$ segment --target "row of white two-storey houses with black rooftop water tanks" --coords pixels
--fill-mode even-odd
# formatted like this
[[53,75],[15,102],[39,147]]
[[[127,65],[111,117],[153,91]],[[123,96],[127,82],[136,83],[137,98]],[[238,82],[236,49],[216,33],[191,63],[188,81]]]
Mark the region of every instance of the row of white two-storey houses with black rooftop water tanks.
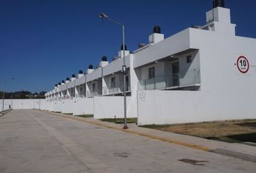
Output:
[[139,125],[256,118],[256,39],[236,36],[235,27],[230,9],[215,1],[205,25],[167,38],[155,26],[148,44],[125,50],[125,57],[120,50],[111,62],[103,57],[98,68],[56,84],[46,102],[109,97],[106,104],[115,109],[111,99],[124,93],[125,58],[127,113]]

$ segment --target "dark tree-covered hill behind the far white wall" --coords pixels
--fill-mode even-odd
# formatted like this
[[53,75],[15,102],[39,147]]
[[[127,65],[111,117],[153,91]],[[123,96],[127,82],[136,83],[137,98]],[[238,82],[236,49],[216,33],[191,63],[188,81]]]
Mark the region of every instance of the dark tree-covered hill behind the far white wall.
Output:
[[[4,99],[45,99],[45,94],[46,92],[35,92],[34,94],[28,91],[4,92]],[[0,99],[3,99],[3,92],[0,92]]]

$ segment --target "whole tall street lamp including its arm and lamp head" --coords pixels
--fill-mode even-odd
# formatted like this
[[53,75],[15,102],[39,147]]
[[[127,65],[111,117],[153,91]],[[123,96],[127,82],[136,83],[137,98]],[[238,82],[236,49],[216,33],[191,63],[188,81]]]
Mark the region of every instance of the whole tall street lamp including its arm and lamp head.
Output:
[[101,13],[100,16],[103,19],[107,19],[110,22],[113,22],[117,25],[121,25],[123,29],[123,66],[122,66],[122,72],[124,74],[124,127],[123,129],[127,129],[127,87],[126,87],[126,74],[127,74],[127,66],[125,65],[125,44],[124,44],[124,24],[114,21],[113,19],[109,19],[109,17],[106,14]]

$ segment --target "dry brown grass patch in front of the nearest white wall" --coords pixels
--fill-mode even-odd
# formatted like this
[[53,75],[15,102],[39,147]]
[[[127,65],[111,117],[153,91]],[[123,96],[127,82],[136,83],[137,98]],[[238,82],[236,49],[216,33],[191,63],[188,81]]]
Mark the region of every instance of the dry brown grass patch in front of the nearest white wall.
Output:
[[197,136],[229,143],[256,143],[256,120],[226,120],[176,125],[142,125],[172,133]]

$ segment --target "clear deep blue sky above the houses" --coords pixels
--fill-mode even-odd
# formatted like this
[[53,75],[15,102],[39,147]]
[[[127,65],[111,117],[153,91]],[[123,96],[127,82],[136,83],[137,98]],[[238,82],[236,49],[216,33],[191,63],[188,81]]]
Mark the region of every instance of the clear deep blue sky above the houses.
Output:
[[[256,38],[256,1],[225,4],[236,35]],[[100,19],[101,12],[124,23],[133,51],[148,43],[154,25],[169,37],[204,25],[211,7],[211,0],[0,0],[0,91],[48,91],[89,64],[98,66],[102,56],[112,60],[121,46],[121,27]]]

